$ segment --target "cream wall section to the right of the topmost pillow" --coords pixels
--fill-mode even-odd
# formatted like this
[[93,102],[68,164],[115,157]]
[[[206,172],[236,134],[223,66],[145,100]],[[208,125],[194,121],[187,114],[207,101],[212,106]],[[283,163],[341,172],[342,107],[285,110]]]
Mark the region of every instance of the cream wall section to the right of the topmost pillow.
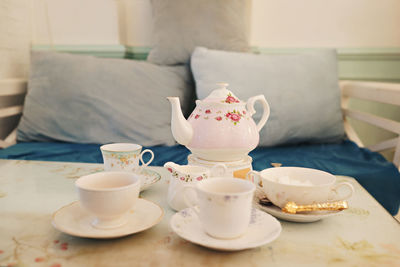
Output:
[[253,0],[261,47],[399,47],[399,0]]

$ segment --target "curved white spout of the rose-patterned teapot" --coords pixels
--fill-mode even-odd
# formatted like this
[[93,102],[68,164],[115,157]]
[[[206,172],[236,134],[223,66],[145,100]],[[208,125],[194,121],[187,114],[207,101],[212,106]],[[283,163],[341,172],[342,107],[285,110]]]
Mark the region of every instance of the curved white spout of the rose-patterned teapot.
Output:
[[181,104],[178,97],[167,97],[171,103],[171,130],[175,140],[184,146],[187,146],[193,137],[192,125],[182,114]]

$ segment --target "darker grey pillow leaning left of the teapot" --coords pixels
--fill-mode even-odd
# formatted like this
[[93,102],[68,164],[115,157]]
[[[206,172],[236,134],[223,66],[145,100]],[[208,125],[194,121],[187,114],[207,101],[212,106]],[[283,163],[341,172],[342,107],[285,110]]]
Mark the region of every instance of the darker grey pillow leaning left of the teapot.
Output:
[[[34,52],[19,141],[172,145],[170,104],[187,109],[188,67]],[[186,105],[185,105],[186,104]]]

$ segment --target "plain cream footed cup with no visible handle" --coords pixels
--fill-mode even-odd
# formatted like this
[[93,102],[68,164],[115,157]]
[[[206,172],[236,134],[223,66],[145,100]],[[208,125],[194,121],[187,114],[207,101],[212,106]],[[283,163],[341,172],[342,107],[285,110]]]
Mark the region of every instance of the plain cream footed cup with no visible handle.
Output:
[[95,216],[92,226],[111,229],[124,225],[127,212],[134,208],[140,178],[128,172],[99,172],[75,181],[81,206]]

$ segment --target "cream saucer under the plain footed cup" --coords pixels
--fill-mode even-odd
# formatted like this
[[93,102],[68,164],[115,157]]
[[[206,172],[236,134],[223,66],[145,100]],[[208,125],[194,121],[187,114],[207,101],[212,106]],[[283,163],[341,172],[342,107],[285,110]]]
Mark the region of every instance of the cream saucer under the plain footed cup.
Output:
[[78,237],[116,238],[131,235],[158,224],[164,215],[163,209],[157,204],[139,198],[134,210],[131,210],[128,222],[113,229],[98,229],[91,225],[94,217],[83,210],[78,201],[57,210],[52,216],[52,224],[61,232]]

